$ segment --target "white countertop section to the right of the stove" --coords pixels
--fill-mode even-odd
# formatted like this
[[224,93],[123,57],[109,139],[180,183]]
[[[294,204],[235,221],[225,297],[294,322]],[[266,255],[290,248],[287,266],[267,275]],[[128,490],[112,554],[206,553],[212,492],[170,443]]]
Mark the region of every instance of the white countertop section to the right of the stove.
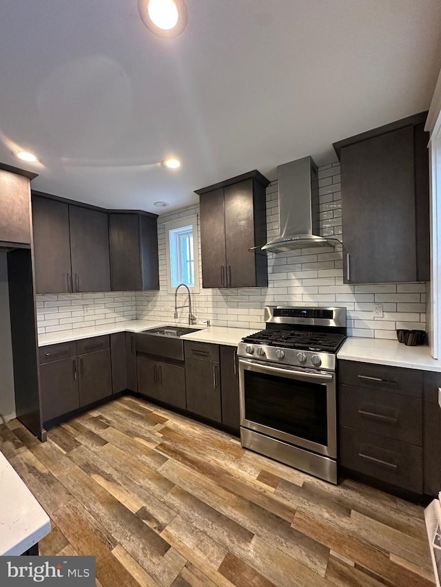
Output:
[[432,358],[428,346],[411,347],[398,341],[348,337],[337,359],[441,372],[441,361]]

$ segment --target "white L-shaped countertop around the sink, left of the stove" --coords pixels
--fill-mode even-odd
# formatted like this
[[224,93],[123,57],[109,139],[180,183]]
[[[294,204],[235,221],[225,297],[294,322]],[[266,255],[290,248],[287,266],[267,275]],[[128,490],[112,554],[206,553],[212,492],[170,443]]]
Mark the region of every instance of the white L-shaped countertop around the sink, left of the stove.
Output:
[[[114,324],[103,324],[99,326],[89,326],[88,328],[76,328],[75,330],[62,330],[61,332],[48,332],[48,334],[39,334],[39,346],[54,345],[69,341],[79,341],[91,337],[99,337],[101,334],[114,334],[114,332],[141,332],[148,328],[167,325],[165,322],[152,322],[147,320],[128,320],[125,322],[116,322]],[[187,324],[182,324],[187,326]],[[227,328],[225,326],[209,326],[209,328],[199,327],[197,324],[194,328],[201,328],[197,332],[185,334],[181,337],[183,340],[201,341],[205,343],[214,343],[218,345],[237,346],[243,337],[256,332],[245,328]]]

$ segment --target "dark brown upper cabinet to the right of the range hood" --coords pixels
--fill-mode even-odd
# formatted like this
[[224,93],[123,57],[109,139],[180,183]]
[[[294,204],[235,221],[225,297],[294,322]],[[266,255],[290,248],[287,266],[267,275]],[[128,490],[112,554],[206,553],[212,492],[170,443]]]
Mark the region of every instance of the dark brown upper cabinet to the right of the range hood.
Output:
[[347,284],[429,279],[427,112],[334,143]]

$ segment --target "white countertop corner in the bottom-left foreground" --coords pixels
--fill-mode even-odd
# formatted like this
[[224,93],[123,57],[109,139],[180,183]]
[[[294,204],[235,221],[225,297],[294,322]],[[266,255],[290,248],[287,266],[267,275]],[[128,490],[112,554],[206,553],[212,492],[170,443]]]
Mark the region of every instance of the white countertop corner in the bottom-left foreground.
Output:
[[21,555],[50,533],[50,520],[0,453],[0,556]]

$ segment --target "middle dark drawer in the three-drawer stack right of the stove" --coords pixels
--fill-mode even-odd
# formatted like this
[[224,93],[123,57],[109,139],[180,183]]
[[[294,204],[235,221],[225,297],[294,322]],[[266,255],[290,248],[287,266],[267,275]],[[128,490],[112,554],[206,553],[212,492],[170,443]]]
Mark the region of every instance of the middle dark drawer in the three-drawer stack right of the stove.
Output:
[[341,385],[340,423],[422,446],[420,399]]

